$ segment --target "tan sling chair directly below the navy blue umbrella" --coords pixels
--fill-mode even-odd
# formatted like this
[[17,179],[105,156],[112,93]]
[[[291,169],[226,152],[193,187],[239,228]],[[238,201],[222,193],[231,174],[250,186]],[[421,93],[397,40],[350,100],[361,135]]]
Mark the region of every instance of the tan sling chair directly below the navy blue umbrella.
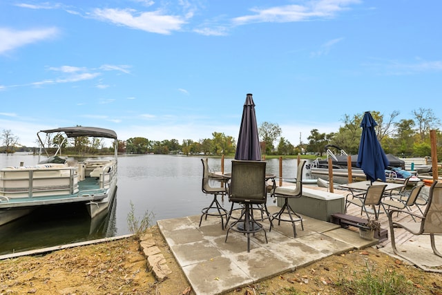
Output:
[[[374,219],[378,220],[379,210],[381,207],[381,199],[383,198],[385,187],[387,187],[387,184],[370,185],[365,193],[361,193],[358,195],[349,193],[345,197],[345,212],[347,212],[347,208],[350,204],[355,204],[356,206],[361,207],[361,215],[362,212],[365,211],[365,214],[367,214],[367,218],[369,219],[367,206],[372,206],[372,209],[374,211]],[[377,211],[376,206],[378,206]]]

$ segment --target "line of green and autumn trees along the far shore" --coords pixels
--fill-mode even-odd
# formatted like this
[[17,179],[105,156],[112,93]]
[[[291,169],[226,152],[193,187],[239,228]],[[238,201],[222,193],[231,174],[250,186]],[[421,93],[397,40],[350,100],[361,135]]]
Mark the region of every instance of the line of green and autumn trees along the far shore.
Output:
[[[396,120],[400,114],[393,111],[390,115],[383,115],[378,111],[372,111],[372,116],[377,122],[375,127],[378,140],[381,142],[385,153],[392,153],[400,157],[425,157],[431,154],[430,130],[436,130],[438,139],[438,157],[442,158],[442,138],[439,127],[441,120],[434,115],[430,108],[419,108],[412,111],[412,119]],[[298,155],[302,153],[314,153],[323,155],[327,144],[339,146],[349,155],[358,153],[361,138],[361,121],[363,113],[343,116],[343,125],[333,133],[320,133],[318,129],[312,129],[308,142],[300,142],[294,146],[285,137],[282,137],[282,129],[276,123],[262,122],[258,128],[261,141],[261,150],[265,155]],[[0,135],[3,143],[1,151],[12,153],[26,149],[17,148],[19,137],[10,130],[3,130]],[[64,151],[70,153],[93,153],[94,151],[111,149],[106,148],[99,139],[78,137],[73,142],[63,142],[61,135],[55,135],[48,140],[47,148],[58,148],[61,144]],[[213,132],[211,138],[194,140],[148,140],[146,137],[131,137],[128,140],[118,142],[119,153],[131,154],[184,154],[184,155],[234,155],[236,151],[236,139],[231,135]]]

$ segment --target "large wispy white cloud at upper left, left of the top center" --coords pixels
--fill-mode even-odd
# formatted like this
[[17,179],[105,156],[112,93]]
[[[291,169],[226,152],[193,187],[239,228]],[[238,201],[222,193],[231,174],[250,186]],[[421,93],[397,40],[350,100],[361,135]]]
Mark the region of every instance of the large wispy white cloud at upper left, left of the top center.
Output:
[[93,17],[104,21],[111,21],[121,26],[165,35],[171,34],[172,31],[180,30],[181,26],[186,23],[182,17],[162,15],[159,10],[137,12],[133,9],[97,8],[93,10]]

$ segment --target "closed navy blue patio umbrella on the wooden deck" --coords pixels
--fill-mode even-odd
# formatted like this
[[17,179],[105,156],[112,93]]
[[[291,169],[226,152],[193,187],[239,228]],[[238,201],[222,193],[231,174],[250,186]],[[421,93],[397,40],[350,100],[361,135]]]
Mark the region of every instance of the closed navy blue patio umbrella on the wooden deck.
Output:
[[377,123],[374,121],[372,114],[365,112],[361,122],[362,135],[356,166],[363,169],[365,175],[367,175],[367,180],[370,180],[370,182],[377,179],[385,182],[385,169],[390,163],[378,141],[376,131],[374,131],[376,125]]

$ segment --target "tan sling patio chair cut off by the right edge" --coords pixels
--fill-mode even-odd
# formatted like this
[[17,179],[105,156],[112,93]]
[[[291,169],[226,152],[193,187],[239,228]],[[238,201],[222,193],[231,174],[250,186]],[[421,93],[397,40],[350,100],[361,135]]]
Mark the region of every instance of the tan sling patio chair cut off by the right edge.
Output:
[[[415,218],[419,218],[420,222],[398,222],[394,221],[392,216],[396,211],[400,211],[401,213],[406,213]],[[425,211],[422,215],[412,213],[404,210],[391,210],[388,212],[388,223],[390,225],[390,236],[392,240],[392,248],[394,254],[409,260],[414,263],[416,266],[421,267],[427,272],[441,272],[442,269],[431,269],[421,265],[421,263],[416,263],[410,258],[403,256],[402,251],[398,251],[396,248],[396,241],[394,240],[394,229],[405,229],[409,231],[411,234],[416,236],[419,235],[430,235],[431,247],[433,249],[434,254],[436,256],[442,257],[441,252],[436,249],[436,242],[434,240],[435,235],[442,234],[442,182],[434,181],[432,186],[430,187],[430,193],[428,196],[428,204],[425,208]],[[419,250],[421,251],[421,250]]]

